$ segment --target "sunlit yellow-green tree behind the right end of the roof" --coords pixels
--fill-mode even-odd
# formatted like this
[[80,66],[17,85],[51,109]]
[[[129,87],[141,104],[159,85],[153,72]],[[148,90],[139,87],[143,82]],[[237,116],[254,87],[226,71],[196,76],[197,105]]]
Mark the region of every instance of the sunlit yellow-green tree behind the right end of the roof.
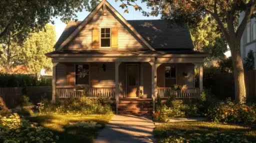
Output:
[[209,20],[210,15],[201,19],[197,26],[190,26],[191,39],[194,50],[209,53],[207,61],[213,58],[223,59],[228,50],[223,34],[217,27],[216,22]]

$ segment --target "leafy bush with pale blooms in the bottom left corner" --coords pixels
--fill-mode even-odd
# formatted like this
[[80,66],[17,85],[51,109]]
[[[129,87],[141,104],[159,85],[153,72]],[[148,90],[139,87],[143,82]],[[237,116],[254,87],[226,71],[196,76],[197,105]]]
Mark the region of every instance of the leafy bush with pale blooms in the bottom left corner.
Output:
[[57,139],[52,132],[29,124],[17,114],[0,117],[0,143],[53,143]]

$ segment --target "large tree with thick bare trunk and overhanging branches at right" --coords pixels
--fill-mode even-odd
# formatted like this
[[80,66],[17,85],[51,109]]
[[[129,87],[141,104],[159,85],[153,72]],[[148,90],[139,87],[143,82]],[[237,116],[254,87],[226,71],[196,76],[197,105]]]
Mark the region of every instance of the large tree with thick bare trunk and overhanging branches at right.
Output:
[[[116,0],[117,1],[117,0]],[[122,8],[133,6],[136,0],[120,0]],[[151,11],[142,11],[144,15],[158,15],[170,19],[172,23],[188,23],[196,26],[200,20],[210,14],[224,35],[232,56],[234,73],[235,101],[243,102],[246,96],[242,57],[240,53],[240,39],[247,22],[254,16],[256,0],[141,0],[146,2]],[[238,25],[239,12],[244,17]]]

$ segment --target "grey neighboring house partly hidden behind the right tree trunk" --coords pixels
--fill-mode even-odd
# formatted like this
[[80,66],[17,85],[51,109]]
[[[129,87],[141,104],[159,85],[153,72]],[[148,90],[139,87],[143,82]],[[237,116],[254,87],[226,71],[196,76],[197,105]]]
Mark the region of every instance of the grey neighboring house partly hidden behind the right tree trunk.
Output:
[[[241,23],[243,17],[244,12],[241,12],[239,14],[239,24]],[[247,23],[247,26],[244,29],[240,40],[240,49],[242,59],[244,59],[247,56],[249,50],[252,50],[254,52],[254,59],[256,61],[256,18],[250,19],[250,21]]]

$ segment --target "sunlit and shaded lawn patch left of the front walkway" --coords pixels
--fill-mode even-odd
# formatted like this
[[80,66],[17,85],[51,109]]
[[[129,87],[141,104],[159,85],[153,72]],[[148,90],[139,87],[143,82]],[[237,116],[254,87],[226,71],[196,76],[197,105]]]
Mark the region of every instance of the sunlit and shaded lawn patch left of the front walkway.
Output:
[[[102,125],[108,123],[113,115],[39,115],[27,117],[30,122],[38,123],[59,136],[57,143],[91,143],[100,129],[68,127],[68,123],[94,121]],[[101,129],[102,129],[101,128]]]

